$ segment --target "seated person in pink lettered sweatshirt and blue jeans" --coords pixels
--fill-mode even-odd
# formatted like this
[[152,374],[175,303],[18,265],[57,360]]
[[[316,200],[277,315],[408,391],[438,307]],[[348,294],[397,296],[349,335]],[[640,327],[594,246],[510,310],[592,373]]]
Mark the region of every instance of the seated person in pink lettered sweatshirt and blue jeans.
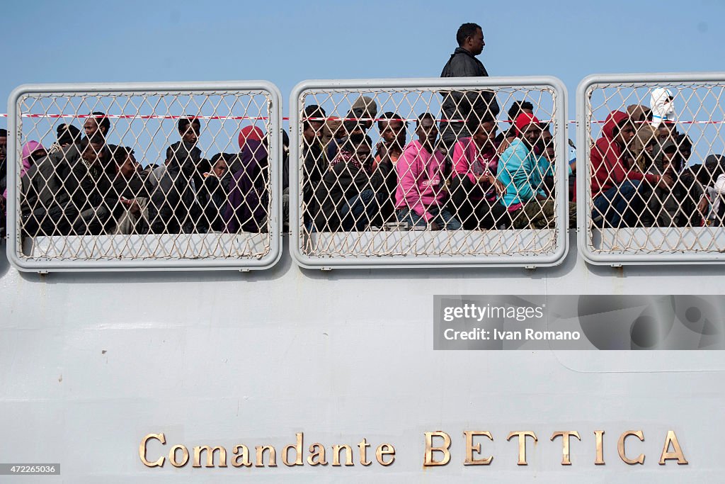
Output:
[[438,127],[430,112],[418,116],[415,134],[418,139],[405,147],[395,165],[398,175],[395,215],[399,222],[407,222],[409,226],[460,229],[460,222],[446,209],[444,155],[435,148]]

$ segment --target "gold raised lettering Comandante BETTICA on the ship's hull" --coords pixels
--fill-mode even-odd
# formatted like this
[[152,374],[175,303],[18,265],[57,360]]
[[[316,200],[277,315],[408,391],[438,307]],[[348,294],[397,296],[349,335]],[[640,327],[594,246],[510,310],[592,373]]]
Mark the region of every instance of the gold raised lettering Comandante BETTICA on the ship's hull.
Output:
[[[423,467],[445,466],[451,462],[452,439],[447,432],[424,432],[423,446]],[[494,441],[494,436],[488,430],[465,430],[465,459],[461,463],[470,465],[490,465],[494,456],[487,455],[482,446],[486,442]],[[579,432],[576,430],[558,430],[552,433],[550,440],[554,442],[560,438],[561,465],[572,465],[570,448],[572,438],[579,440],[581,445],[587,445],[582,441]],[[511,455],[502,457],[505,463],[525,466],[527,443],[536,444],[539,441],[536,432],[533,430],[516,430],[509,432],[505,440],[512,442]],[[589,463],[604,465],[605,431],[595,430],[593,440],[593,457]],[[642,430],[626,430],[618,435],[617,454],[621,462],[629,465],[645,464],[645,454],[636,454],[636,451],[627,449],[627,446],[634,447],[634,443],[645,441],[645,434]],[[515,448],[513,444],[516,444]],[[554,445],[554,444],[552,444]],[[146,467],[164,467],[168,462],[173,467],[185,467],[190,461],[192,467],[277,467],[278,452],[272,445],[254,446],[254,451],[244,444],[232,446],[208,446],[200,445],[188,448],[183,444],[175,444],[166,448],[166,436],[163,433],[148,434],[141,439],[138,446],[138,456]],[[368,454],[368,451],[370,453]],[[529,448],[531,451],[531,448]],[[516,456],[518,454],[518,460]],[[635,455],[636,454],[636,455]],[[279,454],[281,462],[287,467],[305,466],[370,466],[378,464],[388,467],[395,462],[395,447],[392,443],[380,443],[376,446],[368,443],[366,438],[359,443],[334,444],[325,446],[323,443],[315,442],[305,447],[304,435],[302,432],[295,434],[294,443],[283,446]],[[668,461],[676,461],[677,464],[687,464],[684,458],[682,446],[674,430],[668,430],[664,436],[662,451],[658,463],[665,465]]]

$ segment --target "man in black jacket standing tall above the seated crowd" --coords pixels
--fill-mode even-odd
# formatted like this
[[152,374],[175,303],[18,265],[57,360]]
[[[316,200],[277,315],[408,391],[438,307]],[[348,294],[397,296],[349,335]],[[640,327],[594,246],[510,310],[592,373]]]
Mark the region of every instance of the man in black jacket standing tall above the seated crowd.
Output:
[[[486,67],[476,56],[481,54],[486,43],[481,25],[464,23],[456,33],[458,48],[451,54],[441,73],[442,78],[488,77]],[[499,105],[493,91],[445,91],[443,94],[443,115],[446,119],[475,119],[471,125],[478,126],[484,118],[495,119]],[[476,123],[476,120],[478,123]],[[443,144],[452,150],[456,139],[470,137],[471,133],[463,121],[441,123]]]

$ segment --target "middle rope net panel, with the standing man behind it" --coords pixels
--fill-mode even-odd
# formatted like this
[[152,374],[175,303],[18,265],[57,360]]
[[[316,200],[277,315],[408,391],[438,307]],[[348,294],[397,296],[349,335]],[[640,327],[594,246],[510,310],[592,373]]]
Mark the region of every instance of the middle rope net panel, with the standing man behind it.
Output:
[[[529,122],[517,129],[522,112]],[[553,253],[566,230],[555,115],[548,86],[303,91],[291,127],[299,249],[368,259]]]

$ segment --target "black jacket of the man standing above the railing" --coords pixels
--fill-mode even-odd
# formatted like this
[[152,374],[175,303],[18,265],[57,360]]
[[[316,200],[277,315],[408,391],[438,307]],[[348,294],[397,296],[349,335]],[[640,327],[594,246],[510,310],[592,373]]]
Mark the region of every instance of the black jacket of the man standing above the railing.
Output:
[[[463,47],[455,49],[441,72],[442,78],[488,76],[489,73],[481,61]],[[468,119],[473,114],[482,120],[486,112],[495,118],[500,111],[493,91],[447,91],[442,94],[443,114],[447,119]],[[442,123],[441,128],[441,139],[447,145],[458,138],[471,136],[465,123]]]

